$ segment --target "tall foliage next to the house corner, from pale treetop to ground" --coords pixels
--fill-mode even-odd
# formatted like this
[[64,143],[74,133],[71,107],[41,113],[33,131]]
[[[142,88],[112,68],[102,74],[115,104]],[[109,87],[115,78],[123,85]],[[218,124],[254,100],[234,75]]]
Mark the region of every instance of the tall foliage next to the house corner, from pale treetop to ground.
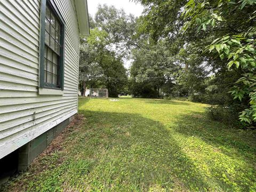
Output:
[[[122,46],[119,47],[120,44],[123,44],[124,39],[119,38],[119,35],[122,30],[126,30],[125,25],[132,25],[131,23],[135,22],[134,18],[113,6],[99,5],[95,18],[90,17],[90,20],[94,27],[91,29],[90,36],[81,37],[79,60],[81,93],[86,87],[107,88],[109,97],[117,97],[118,93],[125,89],[127,80],[106,77],[127,77],[123,65],[126,54],[122,53]],[[128,33],[123,36],[123,38],[128,37],[130,37]]]

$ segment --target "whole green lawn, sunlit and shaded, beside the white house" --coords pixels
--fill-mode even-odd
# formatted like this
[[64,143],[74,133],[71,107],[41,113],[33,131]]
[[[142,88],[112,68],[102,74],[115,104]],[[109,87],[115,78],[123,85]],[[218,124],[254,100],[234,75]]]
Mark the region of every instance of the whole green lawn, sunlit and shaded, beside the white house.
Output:
[[205,107],[81,98],[83,117],[4,190],[256,191],[255,131],[211,121]]

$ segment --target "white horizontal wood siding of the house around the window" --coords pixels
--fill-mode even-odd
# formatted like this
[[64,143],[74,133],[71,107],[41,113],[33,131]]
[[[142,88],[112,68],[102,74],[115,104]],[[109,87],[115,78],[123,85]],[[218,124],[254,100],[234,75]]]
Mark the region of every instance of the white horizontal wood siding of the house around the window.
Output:
[[66,22],[63,95],[38,94],[41,1],[0,1],[0,158],[77,113],[75,3],[54,2]]

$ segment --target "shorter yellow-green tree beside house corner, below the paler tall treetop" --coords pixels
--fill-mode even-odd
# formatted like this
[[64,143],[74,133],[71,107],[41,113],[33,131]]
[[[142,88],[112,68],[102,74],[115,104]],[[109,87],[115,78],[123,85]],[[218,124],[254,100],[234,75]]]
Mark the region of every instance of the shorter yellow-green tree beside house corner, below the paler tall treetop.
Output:
[[98,28],[92,29],[89,37],[81,39],[79,80],[82,93],[86,87],[107,88],[109,97],[117,97],[123,90],[125,81],[109,78],[126,77],[126,69],[115,52],[106,48],[108,44],[107,32]]

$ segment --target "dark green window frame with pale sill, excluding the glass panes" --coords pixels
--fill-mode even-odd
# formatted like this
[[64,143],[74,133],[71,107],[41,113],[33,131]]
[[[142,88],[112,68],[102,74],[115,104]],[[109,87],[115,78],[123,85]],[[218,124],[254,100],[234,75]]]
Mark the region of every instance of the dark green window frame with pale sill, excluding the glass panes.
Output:
[[[58,59],[59,66],[59,86],[44,82],[44,53],[45,53],[45,17],[46,17],[46,5],[54,16],[60,21],[60,56]],[[51,24],[50,24],[51,25]],[[51,89],[52,94],[57,93],[57,90],[63,91],[64,88],[64,67],[65,67],[65,31],[66,23],[55,5],[53,0],[41,0],[41,13],[40,13],[40,38],[39,38],[39,94],[44,94],[42,89]],[[53,51],[54,52],[54,51]],[[40,93],[41,92],[41,93]],[[50,94],[51,91],[47,91]]]

